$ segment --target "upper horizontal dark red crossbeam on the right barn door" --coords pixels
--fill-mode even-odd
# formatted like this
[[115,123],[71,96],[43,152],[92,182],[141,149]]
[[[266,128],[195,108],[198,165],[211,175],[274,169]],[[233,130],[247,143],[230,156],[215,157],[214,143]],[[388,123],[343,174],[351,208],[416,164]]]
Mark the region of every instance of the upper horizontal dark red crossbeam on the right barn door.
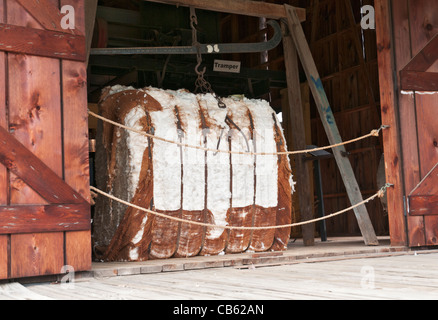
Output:
[[408,91],[438,91],[438,73],[402,70],[400,87]]

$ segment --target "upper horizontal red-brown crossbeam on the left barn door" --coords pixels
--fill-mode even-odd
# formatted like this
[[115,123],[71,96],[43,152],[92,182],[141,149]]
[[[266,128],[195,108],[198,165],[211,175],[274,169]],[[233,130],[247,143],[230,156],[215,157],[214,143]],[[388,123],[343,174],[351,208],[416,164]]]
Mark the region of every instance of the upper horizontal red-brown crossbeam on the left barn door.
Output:
[[0,24],[0,51],[85,61],[84,36]]

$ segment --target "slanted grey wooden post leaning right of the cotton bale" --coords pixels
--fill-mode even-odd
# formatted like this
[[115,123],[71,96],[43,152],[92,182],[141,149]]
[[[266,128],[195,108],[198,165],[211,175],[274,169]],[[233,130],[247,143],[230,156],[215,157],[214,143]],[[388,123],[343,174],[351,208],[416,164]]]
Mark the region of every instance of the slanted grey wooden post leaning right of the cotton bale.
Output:
[[[342,139],[339,134],[335,118],[330,107],[327,95],[324,91],[321,78],[314,60],[309,45],[307,44],[301,22],[292,6],[285,5],[287,21],[292,38],[301,59],[304,71],[306,73],[309,87],[312,90],[318,112],[321,117],[324,129],[331,144],[341,143]],[[342,179],[347,189],[348,197],[352,205],[363,201],[359,185],[354,176],[353,168],[348,158],[344,157],[346,152],[345,147],[333,148],[333,154],[341,172]],[[374,232],[370,217],[368,215],[365,205],[362,205],[354,210],[359,228],[362,232],[366,245],[378,245],[377,236]]]

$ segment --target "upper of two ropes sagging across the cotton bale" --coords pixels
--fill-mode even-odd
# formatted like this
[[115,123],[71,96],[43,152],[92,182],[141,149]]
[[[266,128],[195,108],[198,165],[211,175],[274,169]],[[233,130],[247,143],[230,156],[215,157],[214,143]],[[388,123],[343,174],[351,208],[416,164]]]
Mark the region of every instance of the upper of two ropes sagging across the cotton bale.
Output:
[[117,126],[119,128],[122,128],[122,129],[125,129],[125,130],[129,130],[129,131],[132,131],[132,132],[135,132],[135,133],[138,133],[138,134],[142,134],[142,135],[144,135],[146,137],[149,137],[149,138],[152,138],[152,139],[155,139],[155,140],[160,140],[160,141],[163,141],[163,142],[176,144],[176,145],[181,146],[181,147],[186,147],[186,148],[191,148],[191,149],[198,149],[198,150],[203,150],[203,151],[208,151],[208,152],[214,152],[215,154],[217,154],[217,153],[228,153],[228,154],[240,154],[240,155],[251,155],[251,156],[295,155],[295,154],[304,154],[304,153],[311,153],[311,152],[316,152],[316,151],[333,149],[333,148],[341,147],[341,146],[344,146],[344,145],[347,145],[347,144],[351,144],[351,143],[354,143],[354,142],[357,142],[357,141],[360,141],[360,140],[364,140],[364,139],[367,139],[367,138],[370,138],[370,137],[378,137],[380,135],[380,132],[383,129],[387,129],[388,128],[388,126],[382,125],[379,129],[372,130],[369,134],[364,135],[362,137],[359,137],[359,138],[356,138],[356,139],[352,139],[352,140],[349,140],[349,141],[345,141],[345,142],[341,142],[341,143],[337,143],[337,144],[333,144],[333,145],[326,146],[326,147],[307,149],[307,150],[300,150],[300,151],[285,151],[285,152],[273,152],[273,153],[254,153],[254,152],[242,152],[242,151],[230,151],[230,150],[217,150],[217,149],[205,148],[205,147],[202,147],[202,146],[193,146],[193,145],[189,145],[189,144],[186,144],[186,143],[172,141],[172,140],[168,140],[168,139],[165,139],[165,138],[157,137],[157,136],[154,136],[153,134],[149,134],[149,133],[146,133],[144,131],[140,131],[140,130],[137,130],[137,129],[134,129],[134,128],[131,128],[131,127],[127,127],[127,126],[125,126],[123,124],[120,124],[118,122],[114,122],[114,121],[109,120],[109,119],[107,119],[105,117],[102,117],[102,116],[100,116],[100,115],[98,115],[98,114],[96,114],[96,113],[94,113],[94,112],[92,112],[90,110],[88,110],[88,114],[93,116],[93,117],[95,117],[95,118],[97,118],[97,119],[100,119],[102,121],[105,121],[107,123],[115,125],[115,126]]

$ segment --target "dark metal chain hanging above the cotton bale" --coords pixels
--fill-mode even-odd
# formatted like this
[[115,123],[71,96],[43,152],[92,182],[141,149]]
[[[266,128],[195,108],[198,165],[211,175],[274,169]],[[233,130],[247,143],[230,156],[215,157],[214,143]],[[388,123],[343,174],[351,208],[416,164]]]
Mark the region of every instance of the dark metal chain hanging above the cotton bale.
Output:
[[213,91],[211,84],[205,79],[204,75],[207,68],[204,67],[202,70],[199,68],[202,64],[202,54],[201,54],[201,44],[198,41],[198,31],[196,27],[198,26],[198,17],[194,7],[190,7],[190,26],[192,28],[192,45],[196,47],[196,66],[195,72],[198,78],[195,81],[195,93],[201,91],[202,93],[211,93],[218,101],[219,108],[225,109],[227,106]]

